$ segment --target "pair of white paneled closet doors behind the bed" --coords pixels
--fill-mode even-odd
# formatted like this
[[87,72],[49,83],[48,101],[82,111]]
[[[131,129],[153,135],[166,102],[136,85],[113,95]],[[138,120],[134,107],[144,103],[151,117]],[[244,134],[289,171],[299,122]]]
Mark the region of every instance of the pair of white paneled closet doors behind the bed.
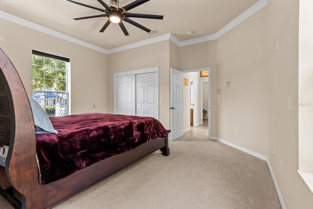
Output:
[[158,119],[157,72],[116,76],[116,114]]

